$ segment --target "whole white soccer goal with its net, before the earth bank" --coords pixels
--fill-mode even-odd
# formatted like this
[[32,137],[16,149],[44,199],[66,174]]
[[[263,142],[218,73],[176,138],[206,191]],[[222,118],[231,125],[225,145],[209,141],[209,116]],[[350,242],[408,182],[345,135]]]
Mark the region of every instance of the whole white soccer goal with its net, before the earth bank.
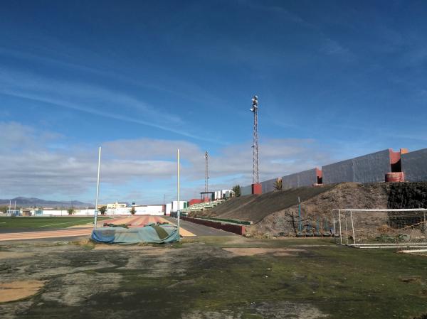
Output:
[[333,210],[338,244],[357,248],[427,247],[427,209]]

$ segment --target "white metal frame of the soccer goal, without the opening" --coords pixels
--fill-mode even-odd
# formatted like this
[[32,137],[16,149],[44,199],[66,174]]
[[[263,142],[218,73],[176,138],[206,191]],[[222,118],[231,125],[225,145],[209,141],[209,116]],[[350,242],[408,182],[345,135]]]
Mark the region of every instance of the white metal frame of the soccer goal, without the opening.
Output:
[[[411,238],[408,239],[407,242],[392,242],[392,243],[370,243],[370,242],[362,242],[362,239],[357,238],[357,234],[355,231],[354,225],[354,214],[369,214],[369,212],[374,213],[399,213],[401,212],[404,217],[405,213],[410,215],[411,213],[420,213],[417,218],[422,217],[422,222],[418,222],[416,225],[422,225],[423,228],[422,234],[423,236],[417,237],[416,242],[411,242]],[[422,213],[422,214],[421,214]],[[334,220],[334,237],[336,239],[337,244],[342,244],[348,247],[355,248],[427,248],[427,209],[426,208],[406,208],[406,209],[334,209],[332,210],[332,217]],[[375,217],[375,215],[371,215],[370,217]],[[388,217],[389,218],[389,217]],[[407,226],[406,228],[410,228],[411,226]],[[392,229],[392,227],[389,227]],[[404,227],[405,228],[405,227]],[[398,229],[398,228],[396,228]],[[360,232],[360,230],[357,230]],[[404,236],[404,234],[402,234]]]

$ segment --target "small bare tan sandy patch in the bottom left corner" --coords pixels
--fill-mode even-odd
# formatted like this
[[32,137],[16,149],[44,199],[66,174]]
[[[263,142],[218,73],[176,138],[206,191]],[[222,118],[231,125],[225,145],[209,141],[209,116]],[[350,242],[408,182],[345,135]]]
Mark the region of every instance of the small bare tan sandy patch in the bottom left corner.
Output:
[[35,295],[44,286],[45,281],[12,281],[0,283],[0,303],[17,301]]

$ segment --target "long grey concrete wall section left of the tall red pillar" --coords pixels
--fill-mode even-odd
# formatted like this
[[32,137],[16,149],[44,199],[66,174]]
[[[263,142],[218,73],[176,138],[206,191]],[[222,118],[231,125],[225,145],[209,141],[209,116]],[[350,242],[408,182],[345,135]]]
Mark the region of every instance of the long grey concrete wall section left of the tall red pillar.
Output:
[[324,184],[384,182],[385,175],[389,172],[389,149],[322,166]]

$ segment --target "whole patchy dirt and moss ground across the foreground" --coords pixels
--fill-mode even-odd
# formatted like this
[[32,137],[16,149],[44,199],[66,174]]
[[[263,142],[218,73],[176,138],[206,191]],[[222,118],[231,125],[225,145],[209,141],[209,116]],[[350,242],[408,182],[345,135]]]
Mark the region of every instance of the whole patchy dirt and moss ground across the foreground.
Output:
[[332,239],[4,242],[0,294],[8,296],[0,318],[8,319],[421,319],[427,258],[349,249]]

